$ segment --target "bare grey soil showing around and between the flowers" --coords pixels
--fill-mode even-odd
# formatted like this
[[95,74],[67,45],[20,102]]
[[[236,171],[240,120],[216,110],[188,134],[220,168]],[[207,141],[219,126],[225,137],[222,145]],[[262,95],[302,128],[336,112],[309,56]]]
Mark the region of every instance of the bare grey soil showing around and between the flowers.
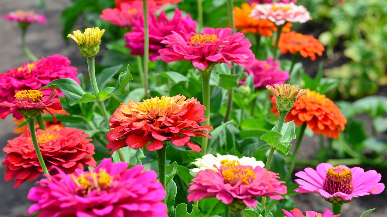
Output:
[[[12,2],[12,3],[11,3]],[[67,56],[72,65],[78,68],[79,72],[85,72],[87,70],[83,58],[81,58],[77,47],[66,46],[62,39],[62,29],[58,26],[60,14],[62,10],[70,5],[68,0],[55,0],[46,1],[46,10],[42,10],[35,6],[34,1],[31,0],[17,0],[7,1],[0,0],[0,15],[3,15],[9,11],[17,9],[22,10],[35,10],[35,12],[45,14],[48,18],[48,24],[46,26],[40,24],[32,24],[29,27],[27,33],[27,44],[31,51],[39,58],[41,56],[49,56],[52,54],[62,54]],[[21,46],[20,29],[15,23],[8,23],[4,20],[0,20],[0,44],[1,44],[1,58],[0,66],[1,72],[6,71],[8,68],[14,68],[22,65],[29,59],[24,55]],[[312,34],[315,34],[313,32]],[[318,32],[316,33],[318,34]],[[307,59],[302,60],[303,63],[308,66],[307,73],[313,75],[317,70],[317,63],[319,60],[324,60],[325,57],[317,59],[315,62],[310,62]],[[346,61],[345,59],[338,58],[338,62]],[[340,63],[324,63],[324,67],[330,68],[332,65]],[[382,93],[386,93],[387,89],[382,88]],[[385,95],[385,94],[382,94]],[[0,141],[2,141],[2,147],[7,143],[9,139],[15,137],[12,134],[12,118],[8,117],[5,120],[0,121]],[[300,158],[313,158],[319,147],[319,138],[305,137],[301,144],[301,149],[298,153]],[[0,152],[0,161],[4,161],[4,153]],[[372,169],[372,168],[367,168]],[[301,167],[296,167],[296,171],[303,170]],[[382,173],[383,183],[387,183],[387,171],[377,169],[379,173]],[[5,166],[0,166],[0,176],[4,174]],[[39,179],[38,179],[39,180]],[[13,188],[14,181],[5,182],[0,177],[0,217],[24,217],[28,207],[32,204],[27,200],[27,193],[29,189],[34,186],[34,182],[27,181],[19,188]],[[315,194],[301,194],[293,196],[296,206],[301,210],[316,210],[323,211],[325,208],[331,209],[331,205],[325,202],[319,195]],[[368,217],[382,217],[387,216],[387,191],[380,195],[364,196],[361,198],[355,198],[350,204],[345,204],[342,207],[343,217],[358,217],[364,211],[376,207],[377,209],[368,215]]]

